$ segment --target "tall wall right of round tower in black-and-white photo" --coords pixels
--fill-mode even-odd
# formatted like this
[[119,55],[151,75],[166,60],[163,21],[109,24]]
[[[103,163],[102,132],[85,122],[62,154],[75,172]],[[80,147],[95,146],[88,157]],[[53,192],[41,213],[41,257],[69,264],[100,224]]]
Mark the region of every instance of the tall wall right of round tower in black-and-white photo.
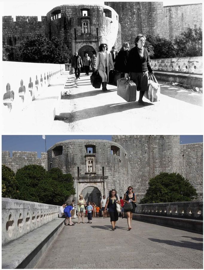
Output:
[[135,46],[135,37],[157,34],[172,42],[175,36],[194,24],[202,27],[202,4],[185,4],[163,7],[163,2],[104,2],[119,15],[122,42],[130,48]]

